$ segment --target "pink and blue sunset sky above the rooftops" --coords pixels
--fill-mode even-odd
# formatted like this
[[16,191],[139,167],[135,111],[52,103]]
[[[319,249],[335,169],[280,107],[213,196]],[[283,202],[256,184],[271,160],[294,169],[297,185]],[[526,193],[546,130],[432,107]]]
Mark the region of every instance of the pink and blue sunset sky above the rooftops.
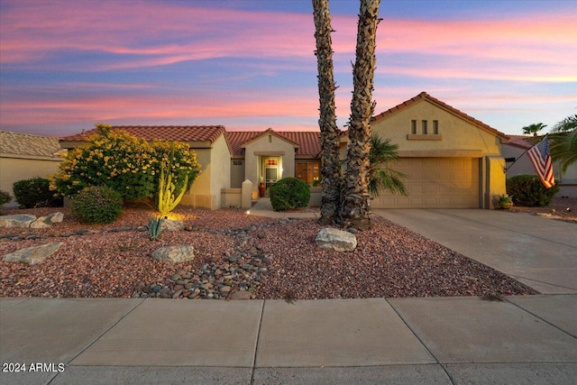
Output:
[[[330,2],[341,128],[359,2]],[[0,129],[318,130],[310,0],[0,0]],[[382,0],[376,114],[426,91],[503,132],[577,114],[577,1]]]

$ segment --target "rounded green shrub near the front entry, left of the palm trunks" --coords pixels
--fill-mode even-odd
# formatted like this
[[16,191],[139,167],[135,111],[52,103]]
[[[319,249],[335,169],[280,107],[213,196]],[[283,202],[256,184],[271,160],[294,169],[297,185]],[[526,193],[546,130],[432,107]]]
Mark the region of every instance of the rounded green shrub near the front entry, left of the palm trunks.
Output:
[[270,186],[270,203],[274,211],[307,207],[310,199],[310,188],[298,178],[280,179]]

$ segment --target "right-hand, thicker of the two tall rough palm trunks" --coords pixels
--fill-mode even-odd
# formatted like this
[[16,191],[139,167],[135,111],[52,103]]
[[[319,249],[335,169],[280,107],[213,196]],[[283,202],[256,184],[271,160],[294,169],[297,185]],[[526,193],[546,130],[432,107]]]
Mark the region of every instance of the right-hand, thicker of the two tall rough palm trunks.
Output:
[[372,90],[380,0],[361,0],[353,67],[353,100],[349,122],[349,144],[344,175],[343,221],[345,227],[371,227],[369,170],[371,169],[371,116],[375,104]]

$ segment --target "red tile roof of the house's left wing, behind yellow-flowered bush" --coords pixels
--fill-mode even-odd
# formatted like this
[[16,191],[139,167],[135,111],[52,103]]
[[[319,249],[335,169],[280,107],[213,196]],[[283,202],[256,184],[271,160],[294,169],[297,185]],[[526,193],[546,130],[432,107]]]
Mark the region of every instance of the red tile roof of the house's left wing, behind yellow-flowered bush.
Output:
[[[147,141],[161,139],[180,142],[215,142],[224,133],[223,125],[114,125]],[[62,138],[61,142],[83,142],[96,133],[96,128]]]

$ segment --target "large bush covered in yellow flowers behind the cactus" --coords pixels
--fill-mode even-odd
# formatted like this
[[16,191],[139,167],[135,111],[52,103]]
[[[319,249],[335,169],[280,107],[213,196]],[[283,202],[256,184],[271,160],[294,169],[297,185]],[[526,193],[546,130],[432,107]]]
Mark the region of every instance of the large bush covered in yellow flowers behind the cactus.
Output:
[[50,177],[50,188],[73,197],[88,186],[105,186],[124,200],[159,197],[161,165],[170,164],[175,190],[188,190],[200,173],[197,154],[185,142],[147,142],[108,124],[96,124],[97,133],[87,144],[69,150],[59,170]]

